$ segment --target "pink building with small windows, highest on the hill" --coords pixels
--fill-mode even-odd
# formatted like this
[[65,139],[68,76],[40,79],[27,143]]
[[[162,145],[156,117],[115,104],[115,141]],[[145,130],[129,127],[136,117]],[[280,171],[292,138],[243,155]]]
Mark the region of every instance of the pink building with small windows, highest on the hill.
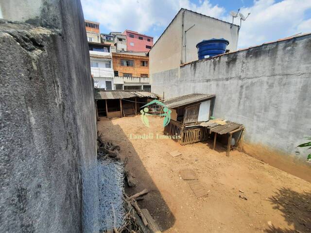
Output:
[[125,30],[127,51],[143,52],[149,51],[154,44],[154,37]]

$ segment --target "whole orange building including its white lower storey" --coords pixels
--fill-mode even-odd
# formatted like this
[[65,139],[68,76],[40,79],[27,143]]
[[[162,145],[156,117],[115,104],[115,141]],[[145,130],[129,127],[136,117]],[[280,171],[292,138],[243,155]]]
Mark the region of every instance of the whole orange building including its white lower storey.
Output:
[[112,63],[116,90],[151,90],[149,57],[114,52]]

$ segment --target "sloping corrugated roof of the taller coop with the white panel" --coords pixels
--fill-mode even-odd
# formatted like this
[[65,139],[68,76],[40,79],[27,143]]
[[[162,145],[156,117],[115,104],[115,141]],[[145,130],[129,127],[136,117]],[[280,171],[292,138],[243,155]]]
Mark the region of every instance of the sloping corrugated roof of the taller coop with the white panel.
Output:
[[215,97],[215,95],[210,94],[190,94],[185,96],[179,96],[172,99],[164,100],[163,103],[168,108],[177,108],[190,103],[195,103],[203,100],[208,100]]

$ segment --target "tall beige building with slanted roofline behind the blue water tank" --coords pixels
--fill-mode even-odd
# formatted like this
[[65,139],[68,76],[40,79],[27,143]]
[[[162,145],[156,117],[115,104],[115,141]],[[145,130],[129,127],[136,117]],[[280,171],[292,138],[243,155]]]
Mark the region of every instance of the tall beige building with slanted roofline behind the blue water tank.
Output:
[[149,51],[151,79],[154,73],[198,60],[196,45],[202,40],[225,38],[229,41],[227,50],[237,50],[239,29],[229,22],[180,9]]

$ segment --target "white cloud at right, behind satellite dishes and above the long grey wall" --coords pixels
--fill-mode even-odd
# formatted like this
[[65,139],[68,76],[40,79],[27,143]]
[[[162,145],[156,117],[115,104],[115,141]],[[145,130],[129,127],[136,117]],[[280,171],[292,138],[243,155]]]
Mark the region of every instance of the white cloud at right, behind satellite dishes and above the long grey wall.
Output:
[[[311,32],[311,19],[305,13],[311,9],[311,0],[259,0],[249,8],[242,8],[244,16],[239,35],[239,47],[262,44],[296,33]],[[230,17],[226,18],[227,20]],[[235,23],[240,24],[240,19]]]

